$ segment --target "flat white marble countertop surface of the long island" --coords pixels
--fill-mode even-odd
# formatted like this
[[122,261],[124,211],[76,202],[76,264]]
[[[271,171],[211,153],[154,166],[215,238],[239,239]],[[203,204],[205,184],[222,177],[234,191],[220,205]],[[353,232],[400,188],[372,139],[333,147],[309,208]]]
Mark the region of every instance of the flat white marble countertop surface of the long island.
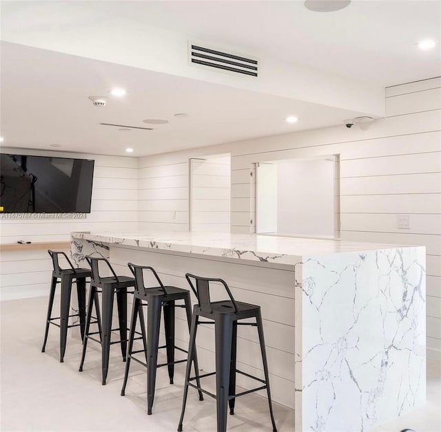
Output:
[[105,244],[287,264],[296,263],[301,257],[406,247],[333,239],[154,230],[148,233],[72,233],[72,237]]

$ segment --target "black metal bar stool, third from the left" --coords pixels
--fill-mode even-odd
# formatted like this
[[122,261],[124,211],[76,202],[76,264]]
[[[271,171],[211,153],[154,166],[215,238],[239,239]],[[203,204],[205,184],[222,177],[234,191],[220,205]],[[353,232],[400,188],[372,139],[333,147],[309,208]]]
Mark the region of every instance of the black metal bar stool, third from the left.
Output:
[[[187,323],[190,327],[192,321],[192,303],[190,301],[190,293],[188,290],[177,288],[174,286],[164,286],[161,279],[154,268],[150,266],[136,266],[132,263],[127,263],[130,270],[135,277],[135,292],[134,303],[132,309],[132,321],[130,323],[130,335],[129,335],[129,347],[127,354],[127,363],[125,365],[125,376],[123,382],[123,388],[121,389],[121,396],[125,395],[125,386],[127,384],[127,378],[130,369],[130,359],[133,358],[137,363],[147,367],[147,414],[152,414],[152,407],[154,401],[154,389],[156,384],[156,369],[158,367],[167,366],[168,375],[170,378],[170,384],[173,384],[174,378],[174,365],[176,363],[183,363],[185,360],[175,360],[174,350],[185,351],[174,345],[174,328],[175,328],[175,307],[185,307],[187,313]],[[144,283],[144,272],[148,270],[152,272],[156,281],[158,281],[157,287],[146,288]],[[183,300],[184,305],[176,305],[176,301]],[[146,303],[145,303],[146,302]],[[143,306],[147,306],[147,349],[133,351],[133,341],[135,334],[135,327],[137,316],[141,318],[143,316]],[[159,330],[161,325],[161,310],[164,310],[164,324],[165,324],[165,345],[159,346]],[[145,324],[143,319],[141,320],[141,332],[145,335]],[[158,349],[166,348],[167,351],[167,363],[158,365]],[[145,353],[146,363],[134,357],[134,354],[140,352]],[[197,374],[198,360],[194,358],[194,371]],[[199,391],[199,400],[203,400],[203,395]]]

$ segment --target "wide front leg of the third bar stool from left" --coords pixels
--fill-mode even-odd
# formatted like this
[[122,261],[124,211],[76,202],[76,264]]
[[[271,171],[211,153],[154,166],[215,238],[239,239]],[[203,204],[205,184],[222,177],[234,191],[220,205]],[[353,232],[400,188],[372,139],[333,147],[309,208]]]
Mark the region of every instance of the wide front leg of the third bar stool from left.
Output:
[[162,301],[151,296],[147,305],[147,414],[152,414],[156,367],[158,365],[159,327]]

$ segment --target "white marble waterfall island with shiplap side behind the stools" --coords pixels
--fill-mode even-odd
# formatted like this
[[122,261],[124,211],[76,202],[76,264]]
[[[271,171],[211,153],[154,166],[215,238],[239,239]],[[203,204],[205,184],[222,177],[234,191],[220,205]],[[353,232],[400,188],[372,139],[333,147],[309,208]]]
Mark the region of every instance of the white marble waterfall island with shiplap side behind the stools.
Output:
[[[85,264],[85,255],[109,257],[119,272],[128,271],[127,261],[150,265],[165,283],[181,287],[185,272],[221,277],[236,299],[260,305],[271,393],[294,408],[296,432],[369,431],[426,400],[424,247],[216,233],[72,233],[76,265]],[[185,345],[185,325],[177,327]],[[254,334],[238,338],[240,369],[261,375]],[[214,369],[212,339],[201,325],[198,356],[205,370]]]

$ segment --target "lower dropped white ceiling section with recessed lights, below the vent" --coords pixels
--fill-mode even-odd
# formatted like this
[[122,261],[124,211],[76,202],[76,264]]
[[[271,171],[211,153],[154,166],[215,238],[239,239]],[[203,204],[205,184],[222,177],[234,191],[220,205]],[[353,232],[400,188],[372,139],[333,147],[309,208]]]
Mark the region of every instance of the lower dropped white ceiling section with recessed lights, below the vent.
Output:
[[[108,91],[127,89],[123,98]],[[94,107],[88,96],[106,96]],[[110,155],[164,153],[341,123],[352,111],[255,91],[40,50],[1,44],[1,133],[8,147]],[[187,118],[173,114],[186,113]],[[295,114],[298,124],[283,119]],[[144,119],[165,119],[147,125]],[[152,127],[118,131],[112,123]]]

